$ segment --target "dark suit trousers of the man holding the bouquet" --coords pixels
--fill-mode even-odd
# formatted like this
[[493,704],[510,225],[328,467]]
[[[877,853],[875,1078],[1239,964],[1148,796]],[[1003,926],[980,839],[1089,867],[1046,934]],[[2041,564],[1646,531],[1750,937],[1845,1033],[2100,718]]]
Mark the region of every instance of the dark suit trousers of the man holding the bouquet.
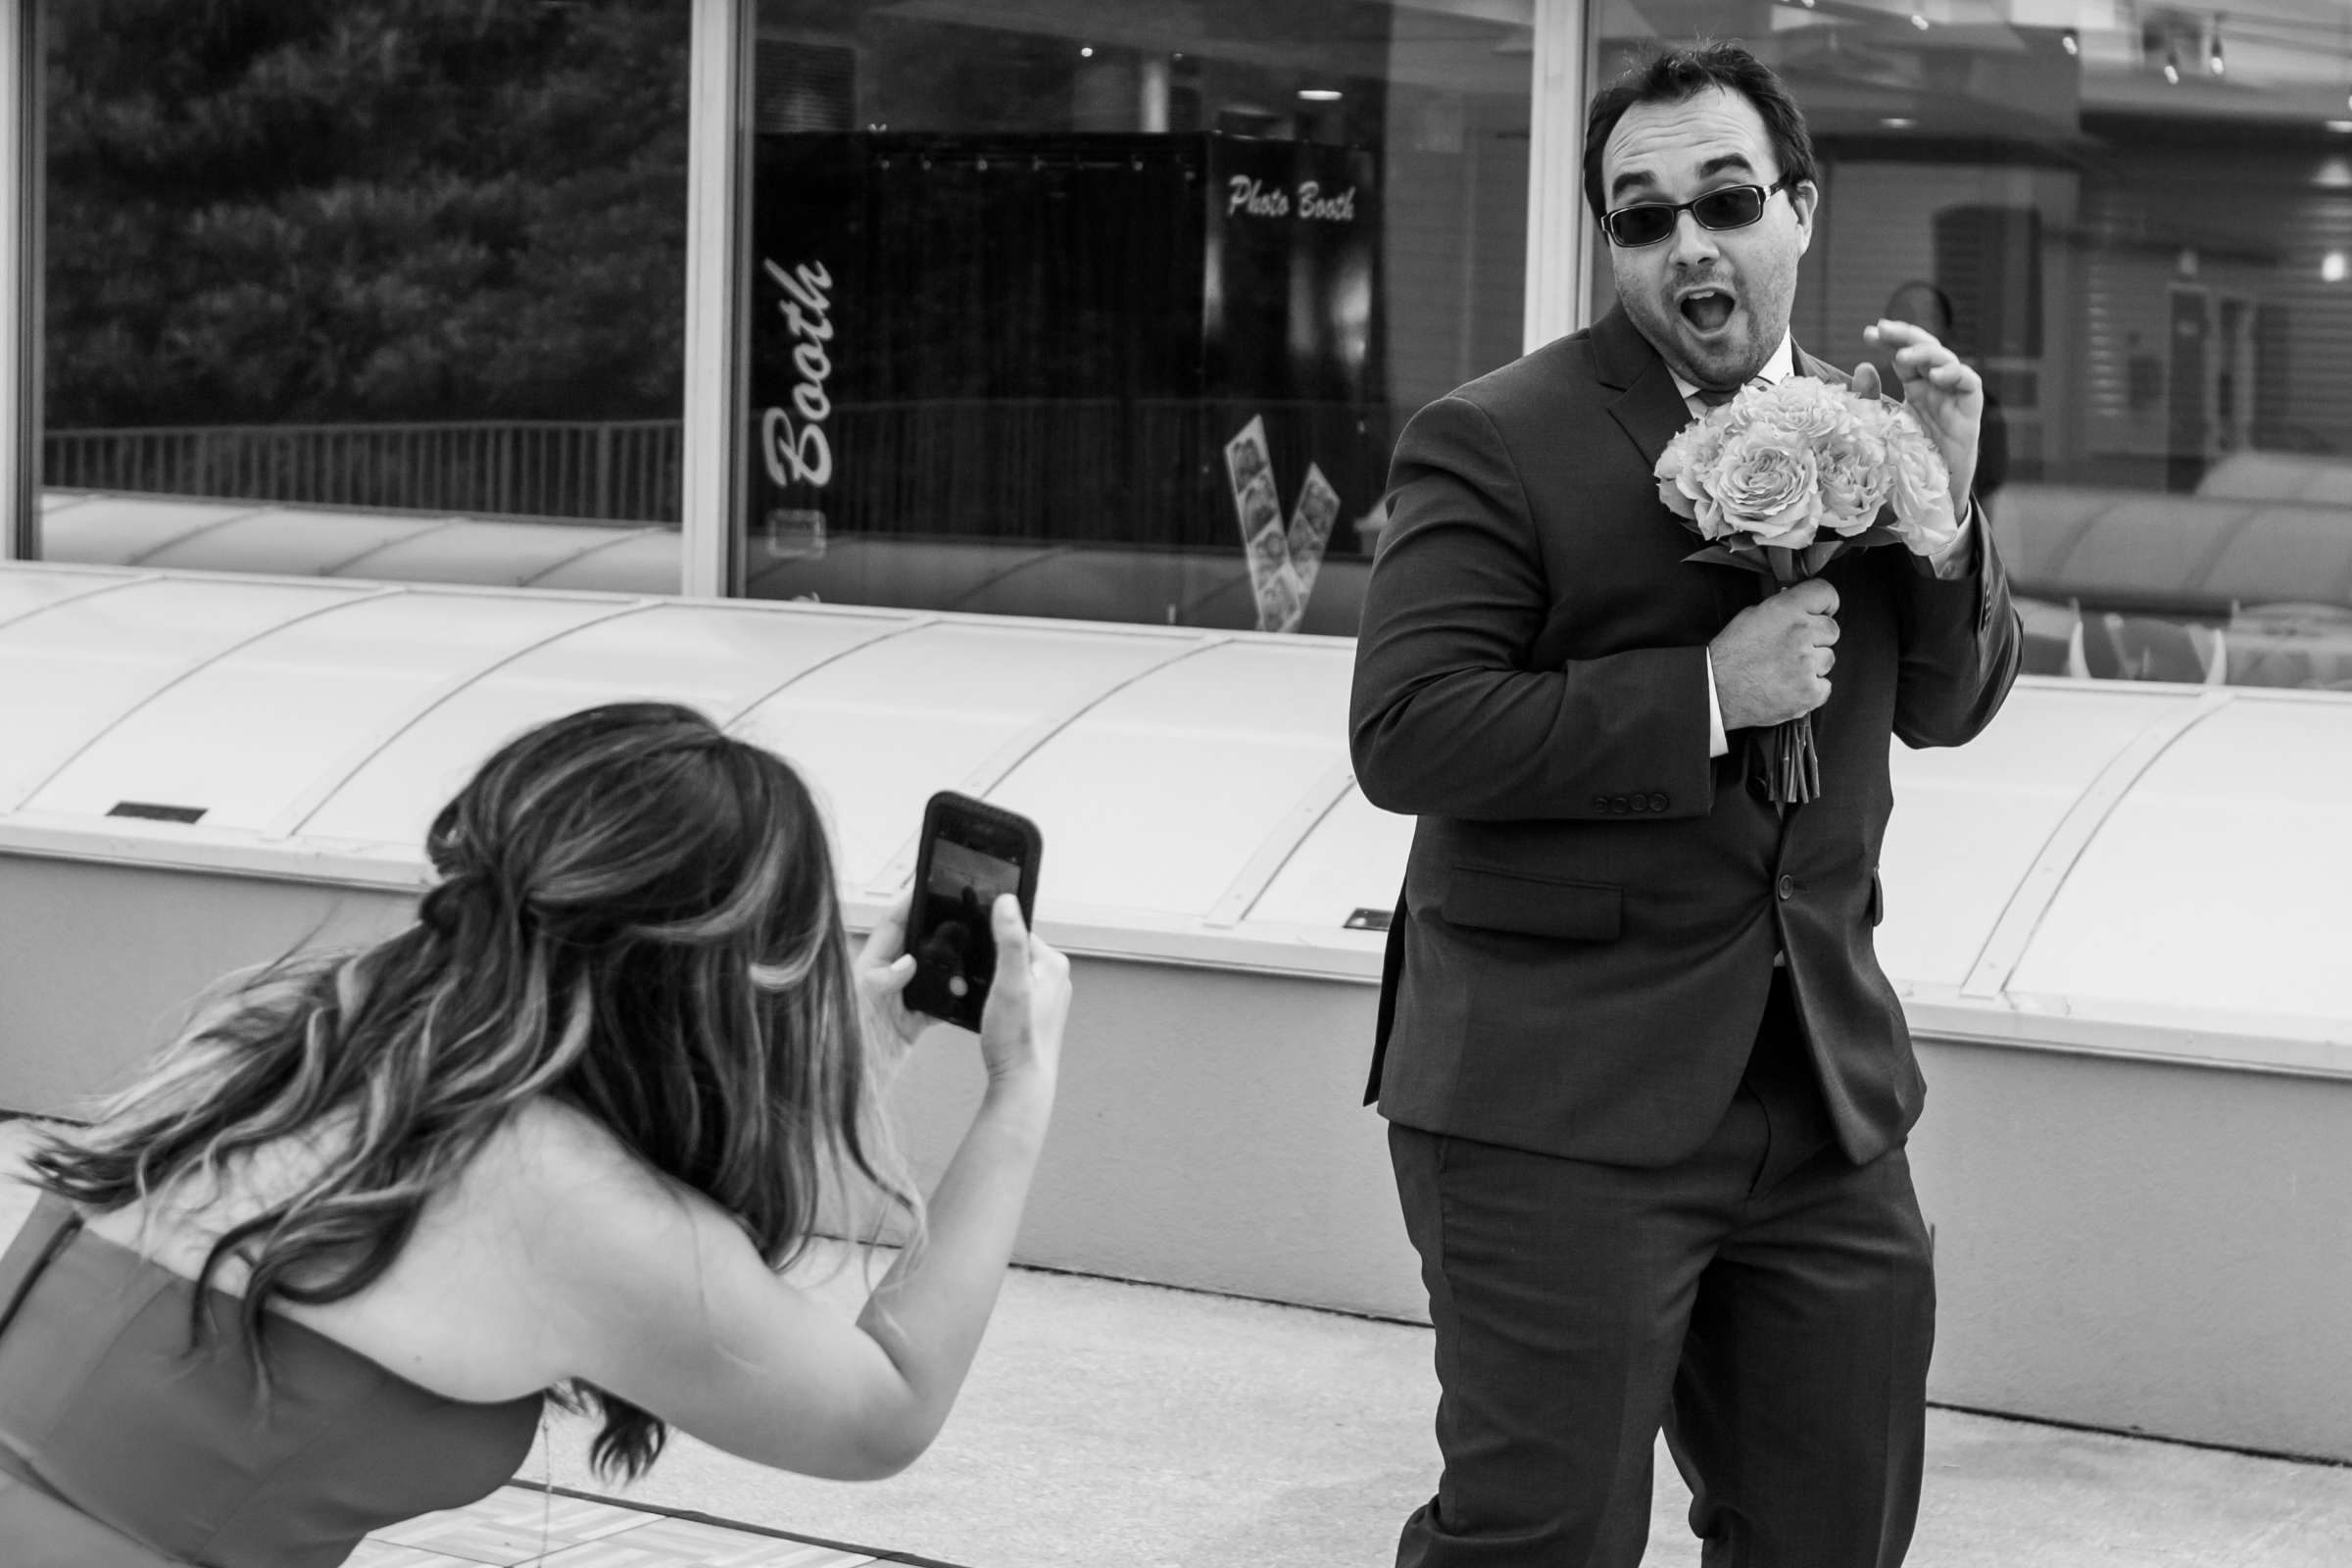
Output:
[[1661,1427],[1705,1568],[1893,1568],[1936,1281],[1910,1161],[1853,1166],[1785,976],[1722,1124],[1663,1168],[1390,1124],[1444,1474],[1397,1568],[1632,1568]]

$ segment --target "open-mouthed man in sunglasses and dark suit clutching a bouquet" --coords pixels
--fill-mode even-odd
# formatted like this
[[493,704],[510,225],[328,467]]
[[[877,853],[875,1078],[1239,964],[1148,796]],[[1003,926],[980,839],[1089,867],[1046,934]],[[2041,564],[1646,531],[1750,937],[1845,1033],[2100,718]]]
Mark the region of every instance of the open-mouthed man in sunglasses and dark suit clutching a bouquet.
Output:
[[[1663,1422],[1710,1566],[1886,1568],[1933,1274],[1877,858],[1889,738],[1969,741],[2016,675],[1983,388],[1879,322],[1964,529],[1759,602],[1684,562],[1651,463],[1755,378],[1844,381],[1788,336],[1804,120],[1738,47],[1665,54],[1595,99],[1585,200],[1618,306],[1406,425],[1357,642],[1357,778],[1421,818],[1367,1095],[1442,1382],[1397,1561],[1637,1563]],[[1820,795],[1783,811],[1748,738],[1799,712]]]

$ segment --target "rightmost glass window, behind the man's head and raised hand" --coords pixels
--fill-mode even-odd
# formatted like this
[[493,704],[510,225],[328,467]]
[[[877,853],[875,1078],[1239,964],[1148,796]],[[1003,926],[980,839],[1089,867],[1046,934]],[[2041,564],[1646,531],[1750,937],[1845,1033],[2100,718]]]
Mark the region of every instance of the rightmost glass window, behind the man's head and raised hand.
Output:
[[[1653,42],[1602,14],[1611,71]],[[2352,686],[2340,7],[1769,16],[1823,162],[1797,341],[1905,315],[1985,374],[2027,670]]]

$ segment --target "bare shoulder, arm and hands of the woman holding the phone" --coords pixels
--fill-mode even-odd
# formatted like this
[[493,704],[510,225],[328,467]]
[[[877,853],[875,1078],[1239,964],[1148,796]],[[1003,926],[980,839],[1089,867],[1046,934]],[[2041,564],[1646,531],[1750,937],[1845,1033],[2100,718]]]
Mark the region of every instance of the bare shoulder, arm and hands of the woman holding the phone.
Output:
[[[1011,898],[993,926],[988,1088],[931,1194],[927,1244],[901,1253],[866,1312],[849,1324],[781,1281],[724,1211],[609,1140],[597,1154],[600,1133],[576,1124],[543,1140],[576,1147],[546,1147],[539,1175],[508,1182],[543,1211],[527,1227],[527,1288],[546,1314],[550,1382],[583,1378],[717,1448],[840,1481],[896,1474],[931,1443],[1004,1281],[1070,1009],[1068,959],[1028,933]],[[913,959],[898,940],[884,922],[861,964],[880,1020],[910,1030],[896,992]]]

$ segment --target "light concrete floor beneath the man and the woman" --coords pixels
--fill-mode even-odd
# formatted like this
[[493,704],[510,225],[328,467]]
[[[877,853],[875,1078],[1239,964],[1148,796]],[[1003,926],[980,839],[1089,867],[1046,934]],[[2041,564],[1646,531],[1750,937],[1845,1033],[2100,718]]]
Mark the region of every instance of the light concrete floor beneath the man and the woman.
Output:
[[[0,1241],[28,1206],[0,1178]],[[854,1312],[861,1269],[821,1262],[807,1284]],[[520,1479],[964,1568],[1374,1568],[1435,1481],[1435,1396],[1428,1328],[1016,1269],[903,1476],[809,1481],[673,1439],[614,1486],[557,1418]],[[1661,1446],[1651,1568],[1698,1561],[1686,1502]],[[2347,1568],[2352,1469],[1931,1410],[1910,1563]]]

